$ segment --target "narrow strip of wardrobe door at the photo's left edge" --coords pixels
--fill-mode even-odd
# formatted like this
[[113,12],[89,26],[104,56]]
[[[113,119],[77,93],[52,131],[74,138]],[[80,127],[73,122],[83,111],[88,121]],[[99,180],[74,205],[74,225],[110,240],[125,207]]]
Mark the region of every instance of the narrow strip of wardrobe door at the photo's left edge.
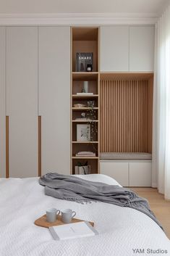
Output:
[[5,28],[0,27],[0,177],[5,177]]

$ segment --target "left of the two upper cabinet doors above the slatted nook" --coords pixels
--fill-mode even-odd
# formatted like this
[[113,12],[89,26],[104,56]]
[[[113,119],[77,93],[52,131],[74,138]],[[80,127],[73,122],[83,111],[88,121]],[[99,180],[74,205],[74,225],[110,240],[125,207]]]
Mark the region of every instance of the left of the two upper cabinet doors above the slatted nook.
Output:
[[101,27],[101,71],[129,71],[129,27]]

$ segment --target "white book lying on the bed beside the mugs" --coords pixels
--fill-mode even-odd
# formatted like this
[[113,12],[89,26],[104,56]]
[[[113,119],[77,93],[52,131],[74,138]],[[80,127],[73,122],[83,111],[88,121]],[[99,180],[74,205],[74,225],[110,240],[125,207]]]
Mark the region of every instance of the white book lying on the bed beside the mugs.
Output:
[[49,231],[55,240],[67,240],[98,235],[98,231],[96,231],[88,221],[53,226],[49,228]]

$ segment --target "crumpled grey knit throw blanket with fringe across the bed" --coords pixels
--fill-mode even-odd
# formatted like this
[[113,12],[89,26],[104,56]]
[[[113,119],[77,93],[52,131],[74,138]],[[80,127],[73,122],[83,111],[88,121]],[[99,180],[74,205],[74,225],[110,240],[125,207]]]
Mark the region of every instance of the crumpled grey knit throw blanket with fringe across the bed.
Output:
[[84,202],[101,201],[121,207],[130,207],[145,213],[161,227],[161,224],[150,210],[148,201],[138,197],[134,191],[129,189],[101,182],[85,181],[76,176],[66,176],[58,173],[47,173],[39,179],[39,183],[45,186],[45,194],[48,196],[82,204]]

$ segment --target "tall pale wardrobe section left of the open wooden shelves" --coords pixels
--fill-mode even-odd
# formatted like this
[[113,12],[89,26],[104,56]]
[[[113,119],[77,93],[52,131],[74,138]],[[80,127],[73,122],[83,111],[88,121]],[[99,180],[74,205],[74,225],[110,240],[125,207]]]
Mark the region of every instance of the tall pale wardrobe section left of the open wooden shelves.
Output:
[[69,27],[0,28],[1,177],[8,162],[9,177],[38,176],[38,152],[42,174],[69,173],[69,38]]

